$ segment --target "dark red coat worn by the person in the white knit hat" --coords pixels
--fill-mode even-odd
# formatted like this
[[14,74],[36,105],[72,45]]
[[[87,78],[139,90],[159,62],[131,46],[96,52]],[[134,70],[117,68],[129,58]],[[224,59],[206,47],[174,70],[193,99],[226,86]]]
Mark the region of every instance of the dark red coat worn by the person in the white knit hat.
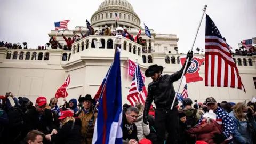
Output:
[[[186,131],[189,135],[195,134],[196,140],[205,141],[209,144],[215,144],[213,141],[214,133],[221,134],[221,126],[213,121],[209,124],[206,121],[203,121],[200,125],[193,127]],[[225,142],[222,142],[225,143]]]

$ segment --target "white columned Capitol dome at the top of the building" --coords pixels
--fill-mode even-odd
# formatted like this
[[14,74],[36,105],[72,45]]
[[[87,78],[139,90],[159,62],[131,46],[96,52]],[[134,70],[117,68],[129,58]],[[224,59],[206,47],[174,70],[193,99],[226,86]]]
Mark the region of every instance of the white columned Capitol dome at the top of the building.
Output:
[[132,5],[126,0],[103,1],[98,10],[92,15],[91,25],[104,27],[105,24],[108,24],[109,27],[114,27],[115,13],[119,17],[118,26],[141,29],[139,16],[134,12]]

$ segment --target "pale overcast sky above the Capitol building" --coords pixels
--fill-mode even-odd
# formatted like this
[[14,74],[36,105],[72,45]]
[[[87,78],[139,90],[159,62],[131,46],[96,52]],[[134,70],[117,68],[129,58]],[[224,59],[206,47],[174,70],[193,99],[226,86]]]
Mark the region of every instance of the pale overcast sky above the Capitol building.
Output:
[[[214,21],[221,35],[234,49],[244,39],[256,37],[255,0],[127,0],[143,22],[155,33],[176,34],[179,52],[193,44],[202,9]],[[90,2],[90,3],[89,3]],[[36,48],[49,41],[54,22],[70,20],[68,29],[85,26],[103,0],[1,0],[0,41],[27,42]],[[194,45],[204,49],[205,17]]]

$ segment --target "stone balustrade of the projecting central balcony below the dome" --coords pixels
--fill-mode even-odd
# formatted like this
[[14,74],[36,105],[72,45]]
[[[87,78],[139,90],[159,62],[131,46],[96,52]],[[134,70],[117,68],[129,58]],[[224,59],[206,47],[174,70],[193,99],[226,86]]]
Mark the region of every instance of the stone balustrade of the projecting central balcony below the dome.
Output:
[[[130,39],[122,38],[121,49],[133,54],[142,56],[142,45],[139,45]],[[87,36],[80,41],[72,44],[73,52],[78,53],[85,49],[115,49],[115,36]]]

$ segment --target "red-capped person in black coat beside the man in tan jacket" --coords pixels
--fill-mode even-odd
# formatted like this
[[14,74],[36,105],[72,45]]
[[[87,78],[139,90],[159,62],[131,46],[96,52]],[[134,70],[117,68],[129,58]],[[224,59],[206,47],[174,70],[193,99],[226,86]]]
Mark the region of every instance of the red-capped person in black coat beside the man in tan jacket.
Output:
[[62,111],[59,118],[61,130],[57,134],[48,134],[45,138],[55,144],[81,144],[81,121],[75,119],[70,110]]

